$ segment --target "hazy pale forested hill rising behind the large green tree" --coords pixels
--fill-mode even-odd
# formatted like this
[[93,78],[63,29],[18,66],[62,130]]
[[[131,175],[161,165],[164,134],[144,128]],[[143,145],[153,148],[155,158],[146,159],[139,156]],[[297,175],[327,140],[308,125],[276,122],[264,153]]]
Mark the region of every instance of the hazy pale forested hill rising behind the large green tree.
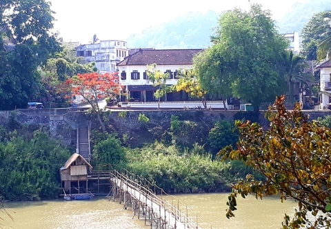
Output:
[[[296,3],[283,19],[277,21],[279,32],[301,32],[314,13],[331,10],[331,0],[309,0]],[[214,11],[190,12],[159,26],[128,37],[130,48],[207,48],[217,26],[219,15]]]

